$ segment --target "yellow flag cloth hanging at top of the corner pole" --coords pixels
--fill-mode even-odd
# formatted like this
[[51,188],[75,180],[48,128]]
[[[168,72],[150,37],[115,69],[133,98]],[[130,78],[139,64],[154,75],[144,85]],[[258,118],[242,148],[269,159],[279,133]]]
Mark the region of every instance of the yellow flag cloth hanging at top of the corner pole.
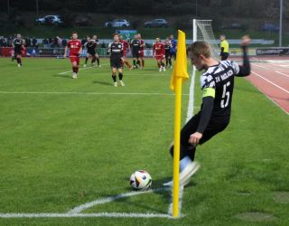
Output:
[[175,92],[176,80],[182,78],[182,81],[189,79],[187,53],[186,53],[186,34],[178,30],[178,50],[177,57],[172,71],[170,89]]

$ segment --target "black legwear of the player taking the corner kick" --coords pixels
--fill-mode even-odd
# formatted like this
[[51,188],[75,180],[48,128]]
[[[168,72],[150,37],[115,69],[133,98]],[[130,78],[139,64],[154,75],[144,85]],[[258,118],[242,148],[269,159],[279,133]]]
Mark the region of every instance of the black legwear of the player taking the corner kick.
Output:
[[[223,131],[228,126],[228,118],[224,118],[223,121],[219,120],[219,123],[212,122],[210,120],[208,127],[206,127],[206,130],[204,131],[201,139],[200,139],[200,145],[204,144],[208,140],[210,140],[211,137],[214,137],[219,132]],[[200,112],[192,117],[184,127],[182,127],[181,131],[181,155],[180,159],[182,159],[185,156],[190,156],[191,160],[194,159],[196,147],[191,146],[189,143],[189,139],[191,137],[191,134],[195,133],[197,131],[197,128],[200,123]],[[170,148],[171,155],[173,154],[173,146]]]

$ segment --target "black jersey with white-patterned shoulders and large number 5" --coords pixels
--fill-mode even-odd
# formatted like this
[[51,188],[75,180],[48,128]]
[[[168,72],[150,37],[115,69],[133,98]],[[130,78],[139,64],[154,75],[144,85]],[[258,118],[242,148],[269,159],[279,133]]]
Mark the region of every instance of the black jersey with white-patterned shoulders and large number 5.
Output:
[[[214,107],[210,121],[223,123],[229,121],[234,89],[234,77],[239,72],[235,61],[219,61],[200,76],[200,88],[215,89]],[[202,107],[201,107],[202,108]]]

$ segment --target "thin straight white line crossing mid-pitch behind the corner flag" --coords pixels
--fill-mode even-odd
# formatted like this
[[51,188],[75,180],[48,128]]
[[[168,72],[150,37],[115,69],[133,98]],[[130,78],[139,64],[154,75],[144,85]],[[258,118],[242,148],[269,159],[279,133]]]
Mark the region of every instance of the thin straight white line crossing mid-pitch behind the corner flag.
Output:
[[[174,96],[173,93],[159,93],[159,92],[45,92],[45,91],[0,91],[0,94],[76,94],[76,95],[146,95],[146,96]],[[189,96],[190,94],[182,94]]]

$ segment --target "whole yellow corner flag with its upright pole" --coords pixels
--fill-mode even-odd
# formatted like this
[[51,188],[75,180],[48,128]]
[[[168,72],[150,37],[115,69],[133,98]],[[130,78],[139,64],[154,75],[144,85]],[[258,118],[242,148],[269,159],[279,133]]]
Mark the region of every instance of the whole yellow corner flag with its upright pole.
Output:
[[181,103],[182,81],[189,78],[187,71],[186,35],[178,31],[178,51],[176,62],[172,71],[170,88],[175,93],[174,108],[174,139],[173,139],[173,191],[172,191],[172,217],[179,217],[179,168],[180,168],[180,134],[181,134]]

